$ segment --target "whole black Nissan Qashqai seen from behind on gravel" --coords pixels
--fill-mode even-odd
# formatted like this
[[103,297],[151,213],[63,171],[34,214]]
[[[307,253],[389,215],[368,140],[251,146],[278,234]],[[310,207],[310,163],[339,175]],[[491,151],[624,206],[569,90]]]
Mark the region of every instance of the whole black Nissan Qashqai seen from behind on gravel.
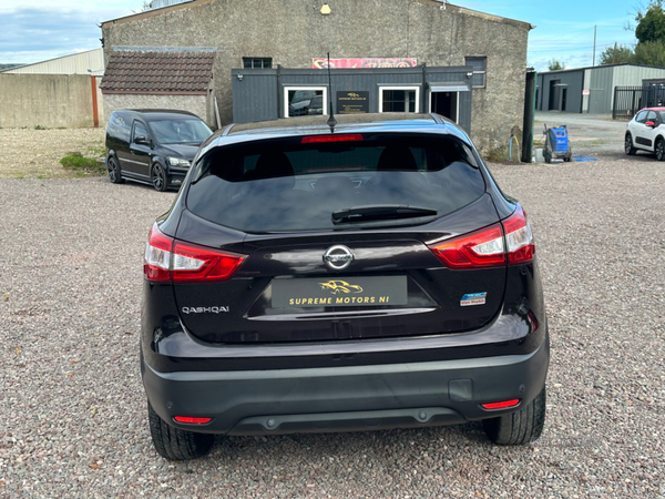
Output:
[[229,125],[145,249],[155,448],[214,434],[483,420],[538,438],[549,337],[531,226],[436,114]]

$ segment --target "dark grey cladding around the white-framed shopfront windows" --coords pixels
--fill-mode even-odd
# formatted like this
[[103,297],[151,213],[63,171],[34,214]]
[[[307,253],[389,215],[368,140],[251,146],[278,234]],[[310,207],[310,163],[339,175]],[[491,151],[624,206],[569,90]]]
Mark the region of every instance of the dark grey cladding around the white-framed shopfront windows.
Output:
[[[427,83],[456,82],[469,91],[459,92],[458,123],[471,130],[471,102],[467,67],[406,69],[336,69],[331,70],[332,105],[338,91],[369,92],[369,112],[379,112],[381,86],[413,86],[419,89],[419,112],[429,112]],[[285,88],[328,88],[325,70],[299,69],[234,69],[232,70],[233,120],[236,123],[275,120],[285,116]],[[329,101],[329,96],[328,96]],[[328,105],[328,103],[326,103]],[[335,110],[338,112],[338,110]]]

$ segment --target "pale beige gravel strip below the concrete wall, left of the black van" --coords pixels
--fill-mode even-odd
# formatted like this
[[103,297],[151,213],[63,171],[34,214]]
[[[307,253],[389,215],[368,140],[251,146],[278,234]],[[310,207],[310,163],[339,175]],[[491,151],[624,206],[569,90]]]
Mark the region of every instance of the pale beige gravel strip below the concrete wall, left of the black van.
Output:
[[0,129],[0,179],[75,176],[75,172],[62,167],[60,160],[70,152],[103,156],[104,133],[103,128]]

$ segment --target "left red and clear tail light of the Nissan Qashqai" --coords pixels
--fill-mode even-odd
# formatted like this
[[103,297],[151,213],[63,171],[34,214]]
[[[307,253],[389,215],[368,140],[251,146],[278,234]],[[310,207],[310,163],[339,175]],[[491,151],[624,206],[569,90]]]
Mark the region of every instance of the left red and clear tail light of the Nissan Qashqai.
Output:
[[228,281],[245,255],[184,243],[163,234],[157,224],[147,235],[143,274],[151,282],[211,283]]

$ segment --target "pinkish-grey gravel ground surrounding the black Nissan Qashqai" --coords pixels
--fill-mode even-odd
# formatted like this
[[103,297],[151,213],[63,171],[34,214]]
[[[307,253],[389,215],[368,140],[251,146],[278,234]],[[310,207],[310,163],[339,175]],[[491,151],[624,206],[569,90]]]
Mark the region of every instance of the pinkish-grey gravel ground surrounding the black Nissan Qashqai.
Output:
[[173,464],[140,380],[141,258],[175,194],[104,177],[0,179],[0,497],[654,498],[665,495],[664,163],[494,165],[536,236],[548,420],[217,438]]

